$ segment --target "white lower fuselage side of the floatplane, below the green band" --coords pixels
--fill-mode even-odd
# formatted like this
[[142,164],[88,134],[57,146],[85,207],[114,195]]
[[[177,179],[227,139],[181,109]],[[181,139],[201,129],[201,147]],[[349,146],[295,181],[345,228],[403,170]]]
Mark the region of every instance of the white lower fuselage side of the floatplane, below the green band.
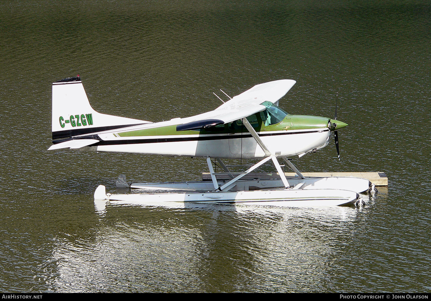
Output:
[[[206,135],[163,135],[118,137],[113,133],[99,134],[102,138],[97,151],[131,152],[149,155],[263,158],[265,152],[250,133],[222,133]],[[259,137],[276,155],[294,156],[328,145],[328,128],[261,132]]]

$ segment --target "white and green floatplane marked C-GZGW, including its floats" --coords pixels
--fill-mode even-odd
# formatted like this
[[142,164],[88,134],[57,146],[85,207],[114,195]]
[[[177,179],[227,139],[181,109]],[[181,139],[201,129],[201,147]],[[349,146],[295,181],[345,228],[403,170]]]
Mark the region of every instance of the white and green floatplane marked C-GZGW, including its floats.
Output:
[[[88,101],[79,75],[52,86],[53,145],[48,150],[78,149],[96,152],[128,152],[147,155],[203,157],[210,181],[173,183],[127,183],[120,175],[117,186],[156,189],[165,192],[109,194],[100,185],[95,200],[109,202],[203,204],[248,204],[291,207],[333,206],[359,202],[359,193],[370,189],[369,180],[357,177],[304,177],[291,162],[327,146],[334,133],[338,159],[337,131],[347,124],[317,116],[291,115],[281,109],[279,99],[294,80],[257,84],[230,97],[218,108],[203,114],[150,122],[96,112]],[[215,172],[212,158],[223,172]],[[256,159],[242,172],[233,172],[222,159]],[[286,177],[281,160],[295,177]],[[247,179],[266,162],[277,176]],[[285,166],[284,165],[284,166]],[[220,180],[219,176],[228,176]],[[176,192],[166,192],[175,190]]]

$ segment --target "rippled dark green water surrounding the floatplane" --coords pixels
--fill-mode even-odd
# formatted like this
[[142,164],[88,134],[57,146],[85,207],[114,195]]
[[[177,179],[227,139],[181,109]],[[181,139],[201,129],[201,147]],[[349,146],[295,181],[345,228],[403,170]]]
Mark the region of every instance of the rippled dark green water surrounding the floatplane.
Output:
[[[430,292],[428,1],[0,3],[0,290]],[[294,79],[293,114],[334,115],[301,171],[382,171],[362,208],[94,208],[98,184],[198,180],[205,161],[48,152],[51,83],[99,112],[161,121],[219,89]],[[367,197],[365,197],[367,198]]]

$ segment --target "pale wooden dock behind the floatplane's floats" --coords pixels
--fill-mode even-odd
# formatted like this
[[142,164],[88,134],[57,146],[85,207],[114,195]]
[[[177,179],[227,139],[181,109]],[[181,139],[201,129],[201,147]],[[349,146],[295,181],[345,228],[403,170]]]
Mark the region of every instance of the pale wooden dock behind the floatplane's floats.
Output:
[[[293,172],[284,173],[286,177],[294,177],[296,174]],[[304,177],[358,177],[368,179],[375,186],[387,186],[387,175],[384,172],[303,172]],[[228,174],[216,175],[217,180],[231,180]],[[250,173],[242,177],[243,180],[268,180],[279,179],[278,173],[265,174],[265,173]],[[202,173],[202,180],[210,181],[211,176],[209,173]]]

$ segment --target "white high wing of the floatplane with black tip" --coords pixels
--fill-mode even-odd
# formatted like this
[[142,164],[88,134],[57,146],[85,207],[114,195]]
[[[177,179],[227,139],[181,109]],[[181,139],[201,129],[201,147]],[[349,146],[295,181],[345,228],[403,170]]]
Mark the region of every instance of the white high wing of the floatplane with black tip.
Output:
[[268,101],[275,105],[296,83],[294,80],[283,79],[258,84],[251,89],[234,96],[217,109],[200,115],[181,118],[186,123],[179,124],[177,130],[196,130],[217,124],[226,124],[265,110],[262,102]]

